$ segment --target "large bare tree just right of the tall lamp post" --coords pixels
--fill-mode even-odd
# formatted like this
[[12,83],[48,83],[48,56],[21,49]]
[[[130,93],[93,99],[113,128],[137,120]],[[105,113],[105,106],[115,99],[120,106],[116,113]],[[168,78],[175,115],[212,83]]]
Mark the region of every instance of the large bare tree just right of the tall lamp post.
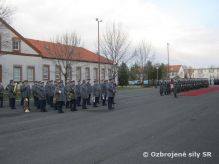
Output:
[[118,76],[118,66],[130,59],[129,47],[128,35],[122,30],[121,25],[115,22],[109,25],[101,39],[100,48],[106,58],[113,62],[112,76],[114,79]]

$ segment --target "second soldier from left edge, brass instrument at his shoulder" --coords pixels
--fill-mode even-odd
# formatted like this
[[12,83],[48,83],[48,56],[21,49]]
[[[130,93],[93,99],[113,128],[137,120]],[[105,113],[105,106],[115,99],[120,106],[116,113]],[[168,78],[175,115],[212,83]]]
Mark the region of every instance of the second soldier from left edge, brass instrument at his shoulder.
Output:
[[17,94],[17,83],[14,83],[13,80],[10,80],[10,84],[7,86],[7,92],[8,92],[8,97],[9,97],[9,106],[11,109],[16,109],[15,108],[15,98]]

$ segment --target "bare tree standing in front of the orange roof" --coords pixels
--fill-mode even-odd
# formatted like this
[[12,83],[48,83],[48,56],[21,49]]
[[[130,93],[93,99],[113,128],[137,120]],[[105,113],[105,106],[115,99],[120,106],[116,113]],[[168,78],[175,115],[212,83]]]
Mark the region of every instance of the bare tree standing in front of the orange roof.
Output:
[[80,44],[81,38],[76,33],[64,33],[63,35],[57,36],[52,41],[52,44],[48,44],[46,47],[48,53],[57,59],[56,65],[60,68],[65,83],[71,77],[72,61],[75,57],[80,57],[78,48]]

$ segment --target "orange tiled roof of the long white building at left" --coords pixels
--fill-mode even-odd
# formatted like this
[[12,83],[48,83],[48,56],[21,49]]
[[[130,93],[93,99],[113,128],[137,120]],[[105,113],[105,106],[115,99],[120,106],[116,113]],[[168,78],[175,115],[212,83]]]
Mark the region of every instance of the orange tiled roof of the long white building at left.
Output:
[[40,41],[34,39],[26,40],[33,45],[36,49],[40,51],[40,54],[44,58],[51,59],[64,59],[64,60],[72,60],[72,61],[84,61],[84,62],[96,62],[104,64],[112,64],[112,61],[85,49],[82,47],[75,47],[73,49],[74,53],[69,55],[69,53],[64,53],[65,50],[70,50],[67,45],[63,45],[60,43],[52,43],[47,41]]

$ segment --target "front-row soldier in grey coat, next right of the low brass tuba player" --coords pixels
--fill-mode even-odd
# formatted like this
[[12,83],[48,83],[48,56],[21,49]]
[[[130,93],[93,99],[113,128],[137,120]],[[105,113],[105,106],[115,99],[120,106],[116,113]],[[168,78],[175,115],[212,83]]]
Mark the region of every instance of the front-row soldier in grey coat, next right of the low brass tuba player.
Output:
[[39,97],[40,111],[46,112],[46,90],[45,90],[44,82],[40,83],[38,89],[39,89],[38,97]]

